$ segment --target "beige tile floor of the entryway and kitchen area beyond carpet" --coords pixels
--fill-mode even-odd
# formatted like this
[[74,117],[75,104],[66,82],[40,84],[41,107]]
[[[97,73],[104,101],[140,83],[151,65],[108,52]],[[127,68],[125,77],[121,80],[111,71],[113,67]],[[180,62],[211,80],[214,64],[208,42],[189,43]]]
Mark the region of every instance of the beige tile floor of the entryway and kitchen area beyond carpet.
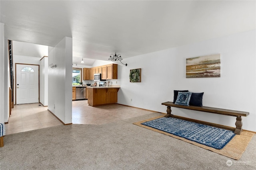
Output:
[[[47,109],[48,107],[38,103],[15,105],[8,123],[5,124],[6,135],[63,125]],[[154,112],[120,104],[91,107],[87,100],[72,102],[73,124],[101,125],[150,113]]]

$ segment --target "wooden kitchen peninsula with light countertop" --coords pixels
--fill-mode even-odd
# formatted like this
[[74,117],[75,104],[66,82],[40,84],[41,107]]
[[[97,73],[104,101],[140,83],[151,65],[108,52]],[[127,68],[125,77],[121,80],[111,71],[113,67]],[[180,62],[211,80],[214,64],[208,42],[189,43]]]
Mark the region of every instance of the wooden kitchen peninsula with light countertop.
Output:
[[120,86],[105,87],[87,87],[88,105],[102,106],[108,104],[115,104],[117,102],[117,92]]

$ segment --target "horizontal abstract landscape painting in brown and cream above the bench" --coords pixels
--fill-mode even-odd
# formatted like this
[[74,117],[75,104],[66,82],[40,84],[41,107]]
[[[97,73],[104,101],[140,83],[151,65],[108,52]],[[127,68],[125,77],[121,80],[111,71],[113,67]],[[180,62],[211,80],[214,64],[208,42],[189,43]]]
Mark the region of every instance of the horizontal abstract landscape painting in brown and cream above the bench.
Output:
[[186,59],[186,78],[220,77],[220,54]]

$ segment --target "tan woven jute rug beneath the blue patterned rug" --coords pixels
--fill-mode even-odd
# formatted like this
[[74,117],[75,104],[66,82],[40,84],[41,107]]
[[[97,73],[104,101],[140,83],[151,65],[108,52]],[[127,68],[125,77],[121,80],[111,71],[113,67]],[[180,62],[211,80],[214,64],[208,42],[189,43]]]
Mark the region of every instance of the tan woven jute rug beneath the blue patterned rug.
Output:
[[201,147],[201,148],[204,148],[204,149],[207,149],[207,150],[211,150],[212,152],[227,156],[227,157],[235,159],[235,160],[238,160],[238,159],[241,158],[242,154],[246,150],[246,147],[247,147],[248,143],[251,141],[251,139],[254,135],[254,133],[252,133],[252,132],[242,131],[242,133],[240,135],[234,136],[234,138],[231,139],[231,141],[229,143],[227,143],[227,145],[223,149],[214,149],[212,147],[208,147],[206,145],[202,145],[200,143],[196,143],[194,141],[190,141],[188,139],[178,137],[176,135],[173,135],[173,134],[170,134],[170,133],[167,133],[167,132],[164,132],[164,131],[161,131],[161,130],[158,130],[158,129],[148,127],[146,125],[141,124],[141,123],[144,123],[146,121],[151,121],[151,120],[154,120],[154,119],[158,119],[160,117],[164,117],[164,116],[153,117],[153,118],[146,119],[146,120],[143,120],[143,121],[139,121],[139,122],[136,122],[136,123],[133,123],[133,124],[141,126],[141,127],[145,127],[145,128],[150,129],[152,131],[163,133],[165,135],[174,137],[176,139],[180,139],[182,141],[191,143],[193,145],[196,145],[198,147]]

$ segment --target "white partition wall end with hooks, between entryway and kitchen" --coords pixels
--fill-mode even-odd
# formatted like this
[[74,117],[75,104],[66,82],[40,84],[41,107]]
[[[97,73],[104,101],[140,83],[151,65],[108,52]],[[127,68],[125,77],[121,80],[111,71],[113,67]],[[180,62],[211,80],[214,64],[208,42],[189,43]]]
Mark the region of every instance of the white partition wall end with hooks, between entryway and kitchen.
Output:
[[72,123],[72,38],[48,47],[48,109],[65,124]]

